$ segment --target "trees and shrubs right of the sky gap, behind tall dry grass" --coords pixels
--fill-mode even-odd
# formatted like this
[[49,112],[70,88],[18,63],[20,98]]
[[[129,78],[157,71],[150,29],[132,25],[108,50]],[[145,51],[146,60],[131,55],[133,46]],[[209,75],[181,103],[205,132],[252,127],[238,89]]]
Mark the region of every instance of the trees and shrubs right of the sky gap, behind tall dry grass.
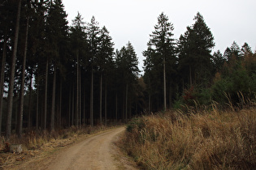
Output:
[[173,24],[167,15],[158,16],[143,52],[147,110],[156,112],[180,105],[242,105],[255,99],[256,53],[247,43],[234,41],[224,53],[215,47],[214,36],[202,15],[187,27],[179,40],[173,38]]

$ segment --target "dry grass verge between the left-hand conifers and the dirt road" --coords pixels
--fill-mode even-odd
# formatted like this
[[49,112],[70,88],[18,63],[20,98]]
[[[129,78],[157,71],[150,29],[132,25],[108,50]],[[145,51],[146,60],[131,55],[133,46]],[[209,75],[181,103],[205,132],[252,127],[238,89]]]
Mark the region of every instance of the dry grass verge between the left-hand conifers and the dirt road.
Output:
[[[105,130],[110,130],[118,125],[90,125],[76,128],[72,126],[68,129],[49,131],[29,131],[23,134],[22,138],[11,135],[8,142],[4,137],[0,137],[0,169],[15,168],[17,164],[22,164],[29,159],[39,159],[59,150],[59,148],[67,147],[89,135],[98,134]],[[11,144],[21,144],[23,151],[20,154],[8,152]]]

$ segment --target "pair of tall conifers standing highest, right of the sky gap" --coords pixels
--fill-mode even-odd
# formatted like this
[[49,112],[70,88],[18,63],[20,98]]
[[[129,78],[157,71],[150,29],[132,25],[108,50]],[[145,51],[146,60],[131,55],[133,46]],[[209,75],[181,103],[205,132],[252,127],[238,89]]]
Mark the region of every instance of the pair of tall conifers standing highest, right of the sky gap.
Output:
[[[163,69],[163,76],[161,76],[163,79],[163,110],[167,108],[166,96],[169,96],[169,107],[171,107],[174,98],[172,94],[177,94],[180,85],[184,89],[184,87],[192,87],[193,84],[203,84],[207,82],[206,79],[210,78],[212,67],[210,52],[215,45],[214,38],[200,13],[197,13],[194,20],[193,26],[188,27],[176,43],[172,38],[173,25],[168,23],[167,16],[162,13],[158,17],[158,24],[154,26],[155,31],[150,35],[149,47],[143,53],[146,57],[144,61],[145,82],[148,84],[150,93],[153,92],[150,90],[152,87],[157,89],[154,92],[158,91],[158,94],[158,89],[162,89],[159,87],[161,80],[156,79],[160,78],[160,70]],[[149,100],[152,100],[151,98],[152,94]],[[161,100],[154,103],[159,105],[159,101]],[[158,110],[158,106],[154,108]]]

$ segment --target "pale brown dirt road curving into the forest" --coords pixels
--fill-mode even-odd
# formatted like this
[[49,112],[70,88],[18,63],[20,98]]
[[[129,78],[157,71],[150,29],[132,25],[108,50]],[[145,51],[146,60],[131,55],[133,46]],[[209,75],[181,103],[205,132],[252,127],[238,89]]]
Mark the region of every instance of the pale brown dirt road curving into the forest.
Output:
[[136,169],[127,164],[128,160],[120,155],[119,148],[114,144],[124,130],[124,127],[119,127],[86,138],[50,155],[46,161],[28,165],[26,169]]

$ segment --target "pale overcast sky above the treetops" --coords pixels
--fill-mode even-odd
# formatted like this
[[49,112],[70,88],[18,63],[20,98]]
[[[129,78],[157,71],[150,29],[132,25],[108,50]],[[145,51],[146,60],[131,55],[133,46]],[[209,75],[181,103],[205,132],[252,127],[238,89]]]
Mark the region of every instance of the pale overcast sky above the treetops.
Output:
[[147,49],[158,15],[164,12],[174,25],[174,38],[191,26],[197,11],[202,14],[215,37],[215,49],[221,53],[235,40],[241,46],[247,42],[256,49],[255,0],[63,0],[67,19],[72,23],[77,12],[85,22],[92,16],[100,26],[106,26],[120,49],[130,41],[142,70],[142,51]]

